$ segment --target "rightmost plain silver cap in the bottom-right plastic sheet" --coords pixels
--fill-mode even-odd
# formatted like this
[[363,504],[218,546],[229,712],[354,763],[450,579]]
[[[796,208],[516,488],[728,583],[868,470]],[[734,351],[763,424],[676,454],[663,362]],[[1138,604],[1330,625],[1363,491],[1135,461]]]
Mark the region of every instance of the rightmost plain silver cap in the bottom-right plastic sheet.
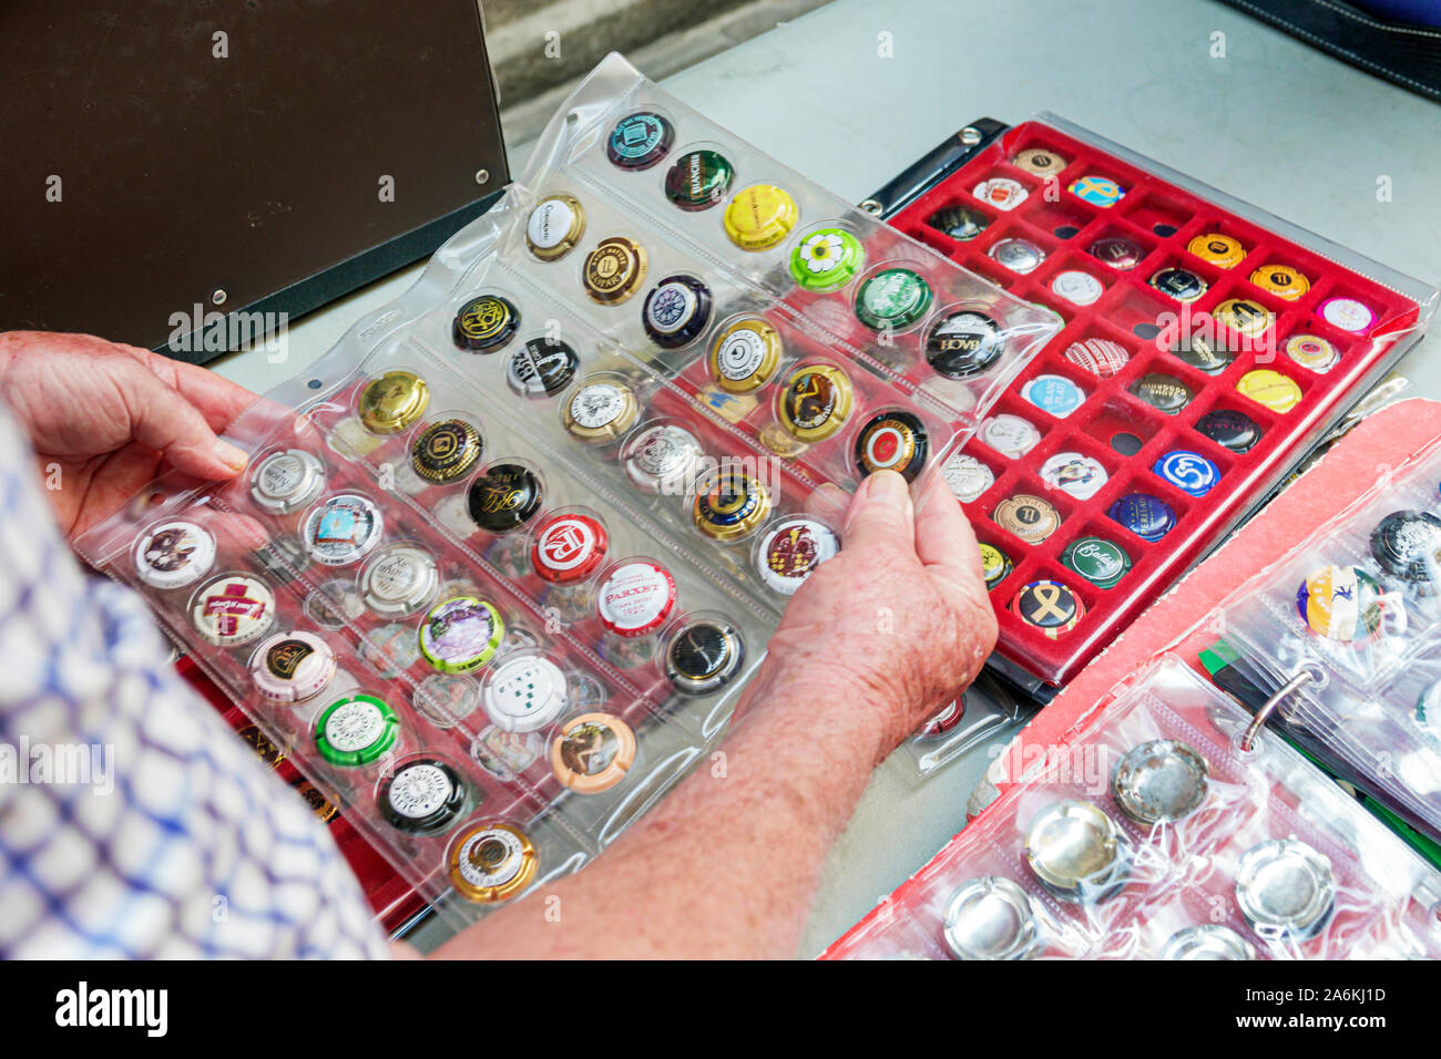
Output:
[[1331,862],[1297,839],[1252,846],[1236,864],[1236,905],[1262,938],[1314,937],[1336,908]]

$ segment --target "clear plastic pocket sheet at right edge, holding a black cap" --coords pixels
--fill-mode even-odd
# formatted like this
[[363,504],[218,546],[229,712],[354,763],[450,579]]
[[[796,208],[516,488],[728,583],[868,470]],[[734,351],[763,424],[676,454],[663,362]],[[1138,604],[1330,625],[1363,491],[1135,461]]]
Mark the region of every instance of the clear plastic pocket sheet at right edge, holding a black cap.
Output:
[[1267,723],[1441,839],[1441,445],[1259,571],[1215,631],[1267,693]]

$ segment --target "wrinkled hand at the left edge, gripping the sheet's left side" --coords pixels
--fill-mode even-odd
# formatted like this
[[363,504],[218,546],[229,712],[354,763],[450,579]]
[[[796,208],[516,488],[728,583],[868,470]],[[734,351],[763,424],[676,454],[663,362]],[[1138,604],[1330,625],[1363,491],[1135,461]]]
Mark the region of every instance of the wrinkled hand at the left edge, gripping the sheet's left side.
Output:
[[255,395],[159,353],[89,334],[0,333],[0,393],[72,539],[118,510],[163,464],[210,480],[245,467],[245,452],[216,432]]

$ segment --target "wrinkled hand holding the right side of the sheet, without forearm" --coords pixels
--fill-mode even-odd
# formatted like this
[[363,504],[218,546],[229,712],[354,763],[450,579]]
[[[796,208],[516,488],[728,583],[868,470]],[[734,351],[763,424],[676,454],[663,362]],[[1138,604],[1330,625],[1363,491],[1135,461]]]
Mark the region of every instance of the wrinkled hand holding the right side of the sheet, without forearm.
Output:
[[919,513],[895,471],[867,477],[844,509],[830,488],[811,509],[844,510],[840,555],[791,599],[769,651],[814,674],[820,696],[866,696],[889,754],[976,677],[996,614],[976,535],[938,475]]

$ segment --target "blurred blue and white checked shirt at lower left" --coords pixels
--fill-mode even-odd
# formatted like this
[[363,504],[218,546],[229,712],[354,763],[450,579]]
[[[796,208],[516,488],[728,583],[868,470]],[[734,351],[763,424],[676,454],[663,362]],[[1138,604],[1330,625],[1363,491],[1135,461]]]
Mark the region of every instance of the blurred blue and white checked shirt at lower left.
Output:
[[385,957],[318,820],[82,569],[0,405],[0,957]]

